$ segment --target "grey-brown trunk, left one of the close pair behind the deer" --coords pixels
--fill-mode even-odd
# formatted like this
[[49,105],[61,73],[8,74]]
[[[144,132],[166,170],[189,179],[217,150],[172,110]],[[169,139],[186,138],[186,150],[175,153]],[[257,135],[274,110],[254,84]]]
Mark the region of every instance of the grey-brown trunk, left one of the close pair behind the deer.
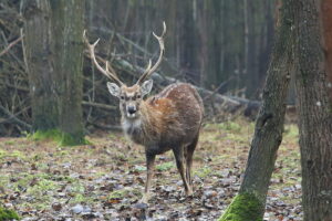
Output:
[[50,3],[45,0],[22,2],[24,51],[29,70],[33,130],[49,130],[59,125],[59,101],[54,74]]

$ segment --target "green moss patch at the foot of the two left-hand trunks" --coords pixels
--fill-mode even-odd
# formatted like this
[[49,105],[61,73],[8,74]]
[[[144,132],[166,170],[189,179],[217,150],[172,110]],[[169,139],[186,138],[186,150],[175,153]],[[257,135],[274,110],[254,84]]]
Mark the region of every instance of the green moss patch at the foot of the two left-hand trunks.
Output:
[[52,139],[60,146],[76,146],[76,145],[91,145],[91,143],[84,138],[75,138],[74,136],[63,133],[59,129],[37,130],[33,135],[30,135],[33,140]]

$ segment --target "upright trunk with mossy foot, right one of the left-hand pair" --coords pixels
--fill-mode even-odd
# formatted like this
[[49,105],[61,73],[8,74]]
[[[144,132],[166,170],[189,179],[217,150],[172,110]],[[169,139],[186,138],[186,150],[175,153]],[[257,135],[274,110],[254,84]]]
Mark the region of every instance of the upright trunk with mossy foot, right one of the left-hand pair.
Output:
[[84,1],[52,0],[55,70],[59,75],[62,143],[84,143],[82,118]]

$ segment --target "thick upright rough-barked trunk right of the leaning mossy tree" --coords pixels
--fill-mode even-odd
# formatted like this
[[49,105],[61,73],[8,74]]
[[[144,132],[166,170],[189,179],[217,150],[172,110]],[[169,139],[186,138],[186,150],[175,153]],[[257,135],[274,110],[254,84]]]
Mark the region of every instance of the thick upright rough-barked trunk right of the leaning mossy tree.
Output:
[[294,39],[298,42],[295,90],[304,221],[332,220],[332,101],[329,98],[331,80],[328,77],[332,52],[328,32],[332,25],[331,14],[328,14],[331,13],[331,4],[328,0],[294,3]]

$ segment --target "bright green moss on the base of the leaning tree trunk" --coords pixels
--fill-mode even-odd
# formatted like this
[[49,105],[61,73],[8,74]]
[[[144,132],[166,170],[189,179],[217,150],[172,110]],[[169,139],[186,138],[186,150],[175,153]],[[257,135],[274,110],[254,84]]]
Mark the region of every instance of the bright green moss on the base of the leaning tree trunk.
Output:
[[263,206],[253,193],[235,197],[219,221],[262,221]]

